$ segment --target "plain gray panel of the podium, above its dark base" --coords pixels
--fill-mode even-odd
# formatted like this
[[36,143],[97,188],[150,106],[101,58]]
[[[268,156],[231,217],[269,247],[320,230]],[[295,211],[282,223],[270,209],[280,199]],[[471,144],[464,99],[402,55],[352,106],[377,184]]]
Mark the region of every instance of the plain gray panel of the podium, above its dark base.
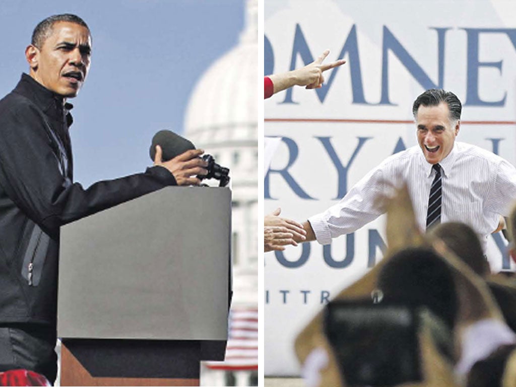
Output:
[[227,340],[231,191],[168,187],[61,228],[59,337]]

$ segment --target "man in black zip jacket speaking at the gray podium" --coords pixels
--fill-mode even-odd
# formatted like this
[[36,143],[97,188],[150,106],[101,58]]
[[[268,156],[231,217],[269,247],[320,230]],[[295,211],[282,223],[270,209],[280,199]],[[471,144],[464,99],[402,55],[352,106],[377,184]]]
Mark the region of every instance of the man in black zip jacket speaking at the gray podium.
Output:
[[88,75],[90,30],[72,14],[49,17],[25,57],[29,75],[0,101],[0,381],[24,369],[4,385],[56,377],[59,227],[166,186],[198,185],[207,173],[202,150],[162,162],[158,147],[143,173],[74,183],[67,99]]

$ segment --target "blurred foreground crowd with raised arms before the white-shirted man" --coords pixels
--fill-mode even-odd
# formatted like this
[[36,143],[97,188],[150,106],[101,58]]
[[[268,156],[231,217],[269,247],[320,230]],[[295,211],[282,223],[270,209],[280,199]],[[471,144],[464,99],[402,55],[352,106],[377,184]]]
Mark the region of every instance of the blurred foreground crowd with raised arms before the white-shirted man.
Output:
[[[384,259],[297,337],[307,385],[516,386],[513,273],[491,272],[469,225],[421,233],[405,189],[387,214]],[[512,241],[515,225],[516,206],[506,233]],[[508,249],[516,256],[512,242]],[[414,321],[400,319],[399,307]]]

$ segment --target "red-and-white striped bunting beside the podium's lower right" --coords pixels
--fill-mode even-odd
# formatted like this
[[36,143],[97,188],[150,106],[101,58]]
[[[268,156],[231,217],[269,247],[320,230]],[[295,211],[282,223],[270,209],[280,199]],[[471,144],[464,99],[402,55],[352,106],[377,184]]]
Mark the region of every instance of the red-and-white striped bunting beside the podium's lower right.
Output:
[[223,362],[205,362],[210,369],[258,369],[258,309],[231,309],[229,338]]

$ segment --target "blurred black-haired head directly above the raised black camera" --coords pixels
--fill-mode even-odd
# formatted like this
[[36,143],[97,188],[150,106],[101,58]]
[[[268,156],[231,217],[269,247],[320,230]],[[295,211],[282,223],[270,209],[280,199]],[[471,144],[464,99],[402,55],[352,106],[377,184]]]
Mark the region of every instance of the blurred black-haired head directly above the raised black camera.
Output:
[[378,276],[385,302],[426,307],[453,329],[458,296],[448,264],[428,248],[408,248],[394,254]]

